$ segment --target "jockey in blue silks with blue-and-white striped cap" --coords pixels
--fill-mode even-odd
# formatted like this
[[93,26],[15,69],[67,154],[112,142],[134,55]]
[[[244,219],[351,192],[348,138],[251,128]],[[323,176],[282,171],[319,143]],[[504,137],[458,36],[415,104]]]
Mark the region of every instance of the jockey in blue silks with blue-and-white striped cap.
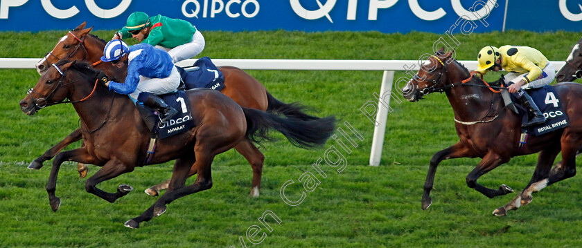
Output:
[[180,83],[180,74],[166,51],[150,44],[128,47],[121,40],[113,40],[105,45],[101,60],[110,61],[118,68],[127,65],[125,82],[105,83],[109,90],[130,95],[143,105],[157,109],[159,113],[163,113],[161,122],[167,122],[178,113],[157,96],[175,91]]

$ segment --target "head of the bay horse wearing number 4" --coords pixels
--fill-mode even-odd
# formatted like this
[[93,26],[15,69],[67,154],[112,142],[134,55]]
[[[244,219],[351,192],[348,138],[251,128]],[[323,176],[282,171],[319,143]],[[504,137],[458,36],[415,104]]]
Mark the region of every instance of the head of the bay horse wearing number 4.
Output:
[[448,64],[453,61],[453,53],[443,53],[441,49],[424,61],[418,73],[402,88],[403,96],[410,102],[416,102],[423,99],[423,95],[442,92],[450,87]]

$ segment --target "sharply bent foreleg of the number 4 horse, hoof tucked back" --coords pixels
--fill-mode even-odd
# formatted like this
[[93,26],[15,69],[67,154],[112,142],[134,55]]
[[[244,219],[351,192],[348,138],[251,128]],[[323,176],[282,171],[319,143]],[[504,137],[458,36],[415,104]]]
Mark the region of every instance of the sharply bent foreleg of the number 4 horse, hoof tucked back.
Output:
[[473,171],[467,175],[467,186],[471,189],[479,191],[479,193],[486,195],[488,198],[494,198],[495,196],[506,195],[507,193],[513,192],[513,189],[505,184],[502,184],[499,189],[489,189],[477,183],[477,180],[482,175],[485,175],[492,169],[495,169],[497,166],[507,161],[509,161],[509,159],[504,159],[499,154],[494,153],[493,151],[489,151],[483,157],[481,162],[479,162],[477,167],[475,167],[475,169],[473,169]]

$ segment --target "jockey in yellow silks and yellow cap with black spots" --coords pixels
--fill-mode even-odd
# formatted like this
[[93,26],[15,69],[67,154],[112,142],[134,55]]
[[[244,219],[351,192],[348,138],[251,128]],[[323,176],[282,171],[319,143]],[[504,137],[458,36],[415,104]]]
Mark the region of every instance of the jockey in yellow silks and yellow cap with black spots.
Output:
[[533,99],[524,89],[541,88],[556,77],[554,66],[535,48],[528,46],[486,46],[477,55],[477,72],[485,74],[488,70],[509,71],[506,81],[509,93],[515,95],[520,104],[527,108],[529,122],[523,126],[532,126],[545,122],[545,117]]

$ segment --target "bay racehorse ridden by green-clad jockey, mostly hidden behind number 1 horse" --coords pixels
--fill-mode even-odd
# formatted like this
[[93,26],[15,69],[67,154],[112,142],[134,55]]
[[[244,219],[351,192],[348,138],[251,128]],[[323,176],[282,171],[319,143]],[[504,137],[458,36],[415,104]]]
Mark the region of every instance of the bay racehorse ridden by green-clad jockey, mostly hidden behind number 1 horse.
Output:
[[[95,68],[103,70],[107,76],[109,76],[109,79],[114,79],[116,82],[123,82],[127,70],[120,70],[119,68],[116,68],[116,66],[112,66],[111,63],[100,63],[100,57],[103,55],[103,48],[105,48],[107,41],[89,35],[91,29],[92,27],[85,28],[84,22],[74,30],[71,30],[71,32],[67,33],[67,35],[60,39],[55,48],[53,48],[51,52],[46,53],[44,59],[39,61],[36,65],[37,71],[39,73],[44,73],[46,69],[50,68],[52,64],[55,64],[60,59],[77,59],[94,63]],[[245,73],[244,70],[240,70],[240,68],[233,66],[220,66],[218,69],[224,75],[225,86],[220,92],[233,99],[234,102],[240,106],[255,108],[261,111],[283,113],[283,115],[287,117],[297,118],[299,120],[319,119],[318,117],[303,113],[303,106],[297,103],[285,104],[272,97],[263,84],[258,82],[248,73]],[[81,131],[79,129],[73,131],[73,133],[69,134],[64,140],[62,140],[62,142],[56,144],[51,149],[48,149],[48,151],[43,155],[31,162],[28,168],[40,169],[44,161],[53,158],[56,153],[72,142],[80,140],[80,134]],[[240,142],[234,147],[234,149],[242,154],[252,166],[253,179],[250,195],[257,197],[261,187],[261,176],[263,174],[263,161],[265,160],[265,156],[249,140]],[[87,166],[84,164],[80,164],[78,170],[81,177],[84,177],[84,175],[87,174]],[[192,173],[195,173],[195,171],[192,171]],[[150,187],[150,189],[145,190],[145,193],[148,193],[149,195],[158,195],[159,190],[168,187],[168,182],[169,180]]]

